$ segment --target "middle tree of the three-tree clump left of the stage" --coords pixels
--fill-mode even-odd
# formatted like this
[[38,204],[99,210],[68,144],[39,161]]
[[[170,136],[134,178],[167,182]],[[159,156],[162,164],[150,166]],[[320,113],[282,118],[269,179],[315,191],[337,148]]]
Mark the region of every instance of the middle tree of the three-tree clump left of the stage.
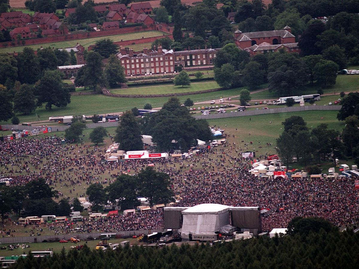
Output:
[[139,188],[136,176],[120,175],[106,187],[108,200],[113,204],[119,200],[121,210],[131,209],[137,205],[137,189]]

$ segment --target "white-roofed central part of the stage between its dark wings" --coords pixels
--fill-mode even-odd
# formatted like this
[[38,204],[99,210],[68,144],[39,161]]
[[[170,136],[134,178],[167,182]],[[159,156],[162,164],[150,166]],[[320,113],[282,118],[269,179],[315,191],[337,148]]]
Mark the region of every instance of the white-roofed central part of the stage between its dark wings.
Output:
[[182,238],[192,235],[213,235],[229,224],[229,206],[222,204],[199,204],[182,211]]

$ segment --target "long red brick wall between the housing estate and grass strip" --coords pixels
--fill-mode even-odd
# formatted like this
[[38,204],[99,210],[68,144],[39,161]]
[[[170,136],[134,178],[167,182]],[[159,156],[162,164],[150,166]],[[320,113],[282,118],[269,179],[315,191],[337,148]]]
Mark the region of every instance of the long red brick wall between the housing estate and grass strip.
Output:
[[[146,27],[146,28],[144,28],[143,26],[136,26],[136,27],[125,27],[125,28],[120,28],[120,29],[98,31],[98,32],[68,34],[65,36],[25,39],[24,46],[33,45],[33,44],[41,44],[41,43],[53,43],[53,42],[59,42],[59,41],[68,41],[68,40],[74,40],[74,39],[85,39],[85,38],[90,38],[90,37],[104,37],[104,36],[111,36],[114,34],[135,33],[135,32],[143,32],[143,31],[151,31],[151,30],[156,30],[155,25],[153,25],[151,27]],[[17,46],[20,46],[20,45],[17,43],[13,43],[12,41],[0,42],[0,48],[17,47]]]

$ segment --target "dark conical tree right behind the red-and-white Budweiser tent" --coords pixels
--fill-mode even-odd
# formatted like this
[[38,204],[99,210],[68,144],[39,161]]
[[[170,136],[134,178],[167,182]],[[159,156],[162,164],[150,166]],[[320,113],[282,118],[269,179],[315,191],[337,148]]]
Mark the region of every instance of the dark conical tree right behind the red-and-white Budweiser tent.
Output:
[[140,126],[132,111],[126,111],[116,128],[115,141],[118,148],[124,151],[143,150]]

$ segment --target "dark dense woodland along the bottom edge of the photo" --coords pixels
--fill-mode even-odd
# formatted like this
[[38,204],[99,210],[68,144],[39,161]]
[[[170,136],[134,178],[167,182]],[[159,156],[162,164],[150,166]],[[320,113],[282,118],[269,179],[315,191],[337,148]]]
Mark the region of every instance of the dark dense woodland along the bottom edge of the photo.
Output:
[[358,268],[359,233],[339,232],[318,219],[294,219],[289,236],[258,237],[223,244],[132,246],[80,251],[51,258],[19,259],[14,268]]

